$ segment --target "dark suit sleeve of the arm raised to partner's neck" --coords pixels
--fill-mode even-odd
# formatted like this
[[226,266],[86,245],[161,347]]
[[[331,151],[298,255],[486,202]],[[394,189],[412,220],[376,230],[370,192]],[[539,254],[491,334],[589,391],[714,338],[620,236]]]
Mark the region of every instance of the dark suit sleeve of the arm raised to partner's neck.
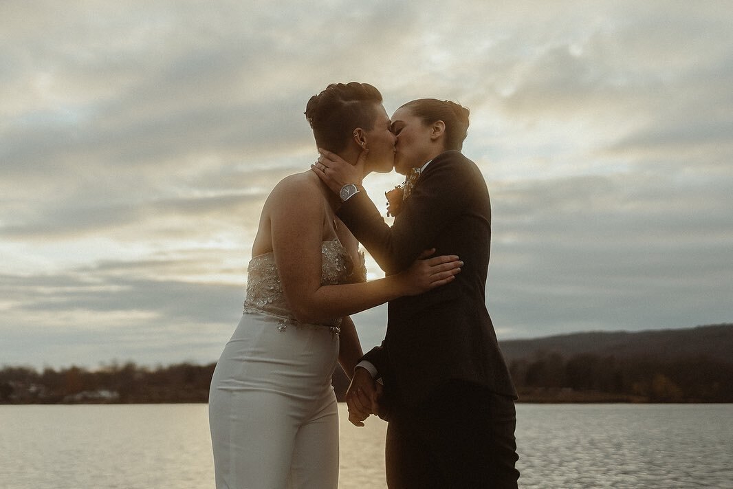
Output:
[[364,192],[342,205],[339,218],[388,274],[405,270],[450,224],[470,199],[471,168],[460,152],[436,157],[389,227]]

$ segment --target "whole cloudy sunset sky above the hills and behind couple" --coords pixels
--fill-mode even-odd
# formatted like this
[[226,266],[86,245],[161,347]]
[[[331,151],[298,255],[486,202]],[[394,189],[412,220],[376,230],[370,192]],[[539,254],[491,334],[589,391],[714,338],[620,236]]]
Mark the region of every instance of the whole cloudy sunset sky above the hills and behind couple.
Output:
[[334,81],[471,109],[500,339],[731,322],[732,29],[727,1],[3,1],[0,365],[215,361]]

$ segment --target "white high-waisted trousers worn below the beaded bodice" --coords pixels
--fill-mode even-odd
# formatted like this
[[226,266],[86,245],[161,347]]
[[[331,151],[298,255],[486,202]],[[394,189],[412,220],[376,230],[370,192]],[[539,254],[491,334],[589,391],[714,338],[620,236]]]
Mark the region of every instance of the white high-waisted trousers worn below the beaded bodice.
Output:
[[216,365],[209,426],[217,489],[336,489],[339,421],[328,328],[243,315]]

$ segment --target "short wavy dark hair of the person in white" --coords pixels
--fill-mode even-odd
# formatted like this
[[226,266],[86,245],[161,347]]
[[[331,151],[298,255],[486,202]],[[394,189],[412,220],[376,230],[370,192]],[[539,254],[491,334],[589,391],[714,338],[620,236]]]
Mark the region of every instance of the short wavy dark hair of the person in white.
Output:
[[374,127],[377,103],[382,103],[382,94],[372,85],[356,81],[330,84],[308,100],[304,114],[316,144],[337,152],[346,147],[355,128]]

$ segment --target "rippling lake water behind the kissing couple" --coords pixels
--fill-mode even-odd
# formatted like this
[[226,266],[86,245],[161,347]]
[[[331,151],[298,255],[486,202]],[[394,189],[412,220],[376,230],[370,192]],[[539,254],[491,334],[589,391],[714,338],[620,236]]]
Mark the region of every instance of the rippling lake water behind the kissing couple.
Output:
[[[339,409],[339,488],[386,488]],[[517,444],[520,488],[733,488],[733,405],[519,404]],[[0,405],[0,488],[213,488],[207,405]]]

